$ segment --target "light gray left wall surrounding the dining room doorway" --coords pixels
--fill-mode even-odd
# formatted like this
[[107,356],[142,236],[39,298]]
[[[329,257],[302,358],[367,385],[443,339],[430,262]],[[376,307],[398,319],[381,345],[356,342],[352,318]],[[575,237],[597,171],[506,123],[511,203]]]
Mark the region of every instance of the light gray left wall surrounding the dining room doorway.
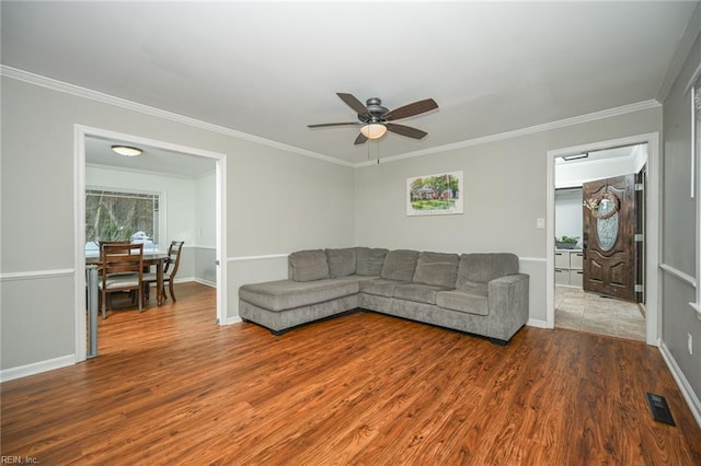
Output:
[[74,358],[76,124],[227,154],[228,318],[232,283],[245,280],[238,256],[353,244],[352,167],[8,77],[1,85],[2,371]]

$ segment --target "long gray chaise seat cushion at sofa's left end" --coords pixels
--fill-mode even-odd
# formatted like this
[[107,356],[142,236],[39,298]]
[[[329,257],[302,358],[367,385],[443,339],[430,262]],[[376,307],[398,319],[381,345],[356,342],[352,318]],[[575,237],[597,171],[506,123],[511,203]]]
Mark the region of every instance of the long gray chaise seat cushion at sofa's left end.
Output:
[[358,292],[358,280],[350,277],[315,281],[277,280],[244,284],[239,298],[269,311],[285,311],[323,303]]

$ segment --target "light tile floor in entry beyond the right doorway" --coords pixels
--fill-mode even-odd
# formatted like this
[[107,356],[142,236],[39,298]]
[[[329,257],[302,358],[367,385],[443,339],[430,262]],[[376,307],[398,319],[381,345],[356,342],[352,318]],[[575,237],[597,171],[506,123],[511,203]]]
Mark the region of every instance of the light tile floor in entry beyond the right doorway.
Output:
[[635,303],[555,287],[555,327],[645,341],[645,317]]

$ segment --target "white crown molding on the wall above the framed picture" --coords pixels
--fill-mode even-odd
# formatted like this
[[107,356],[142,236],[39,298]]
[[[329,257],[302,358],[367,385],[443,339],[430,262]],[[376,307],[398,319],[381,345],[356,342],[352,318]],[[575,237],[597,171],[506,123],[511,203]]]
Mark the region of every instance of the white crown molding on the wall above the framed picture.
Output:
[[[608,108],[605,110],[600,110],[600,112],[594,112],[590,114],[586,114],[586,115],[579,115],[576,117],[571,117],[571,118],[564,118],[564,119],[560,119],[556,121],[551,121],[551,123],[545,123],[542,125],[536,125],[536,126],[530,126],[528,128],[521,128],[521,129],[515,129],[513,131],[506,131],[506,132],[498,132],[496,135],[490,135],[490,136],[484,136],[481,138],[474,138],[474,139],[468,139],[464,141],[460,141],[460,142],[455,142],[451,144],[445,144],[445,145],[438,145],[435,148],[430,148],[430,149],[424,149],[421,151],[415,151],[415,152],[407,152],[404,154],[400,154],[400,155],[392,155],[392,156],[388,156],[384,159],[380,159],[380,163],[390,163],[390,162],[399,162],[401,160],[405,160],[405,159],[412,159],[415,156],[422,156],[422,155],[428,155],[428,154],[435,154],[438,152],[447,152],[447,151],[451,151],[455,149],[462,149],[462,148],[469,148],[472,145],[480,145],[480,144],[486,144],[489,142],[495,142],[495,141],[503,141],[505,139],[512,139],[512,138],[517,138],[520,136],[528,136],[528,135],[535,135],[537,132],[543,132],[543,131],[550,131],[553,129],[558,129],[558,128],[565,128],[568,126],[574,126],[574,125],[581,125],[584,123],[589,123],[589,121],[596,121],[599,119],[606,119],[606,118],[611,118],[611,117],[616,117],[619,115],[625,115],[625,114],[631,114],[634,112],[641,112],[641,110],[646,110],[650,108],[657,108],[660,107],[662,104],[655,100],[651,100],[651,101],[643,101],[643,102],[639,102],[635,104],[630,104],[630,105],[622,105],[620,107],[613,107],[613,108]],[[363,166],[370,166],[370,165],[376,165],[378,163],[377,160],[372,160],[372,161],[368,161],[368,162],[360,162],[355,164],[355,167],[363,167]]]

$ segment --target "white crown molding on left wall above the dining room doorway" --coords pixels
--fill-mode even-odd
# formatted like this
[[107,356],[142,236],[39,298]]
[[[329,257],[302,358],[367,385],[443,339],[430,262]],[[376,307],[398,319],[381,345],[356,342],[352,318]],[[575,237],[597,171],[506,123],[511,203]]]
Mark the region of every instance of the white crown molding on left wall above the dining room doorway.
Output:
[[90,89],[81,88],[79,85],[58,81],[51,78],[46,78],[39,74],[35,74],[28,71],[8,67],[4,65],[0,65],[0,75],[4,75],[19,81],[24,81],[31,84],[39,85],[54,91],[77,95],[79,97],[90,98],[92,101],[101,102],[103,104],[114,105],[116,107],[125,108],[133,112],[138,112],[145,115],[168,119],[171,121],[180,123],[183,125],[192,126],[192,127],[204,129],[207,131],[217,132],[219,135],[229,136],[231,138],[241,139],[249,142],[255,142],[257,144],[267,145],[269,148],[279,149],[286,152],[294,152],[299,155],[322,160],[324,162],[330,162],[337,165],[349,166],[349,167],[354,166],[352,162],[342,161],[329,155],[309,151],[307,149],[301,149],[295,145],[285,144],[283,142],[273,141],[271,139],[261,138],[258,136],[249,135],[248,132],[242,132],[242,131],[238,131],[235,129],[227,128],[223,126],[214,125],[211,123],[186,117],[172,112],[151,107],[149,105],[139,104],[138,102],[128,101],[126,98],[115,97],[114,95],[105,94],[103,92],[97,92]]

